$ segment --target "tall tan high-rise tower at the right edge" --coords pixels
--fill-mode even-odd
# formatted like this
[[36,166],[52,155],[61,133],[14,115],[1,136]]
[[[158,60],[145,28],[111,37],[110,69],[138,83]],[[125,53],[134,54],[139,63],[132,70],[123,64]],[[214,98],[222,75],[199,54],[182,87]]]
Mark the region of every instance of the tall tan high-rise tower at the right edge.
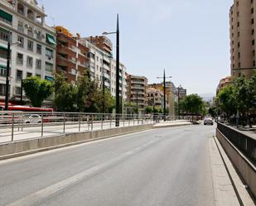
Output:
[[231,75],[250,78],[256,66],[256,1],[234,0],[229,24]]

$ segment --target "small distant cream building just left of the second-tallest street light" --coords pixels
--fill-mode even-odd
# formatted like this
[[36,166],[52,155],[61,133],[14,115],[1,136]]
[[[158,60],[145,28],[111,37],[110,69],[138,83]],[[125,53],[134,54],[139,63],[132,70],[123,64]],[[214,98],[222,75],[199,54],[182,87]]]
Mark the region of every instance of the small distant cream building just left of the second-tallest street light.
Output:
[[162,90],[147,88],[147,104],[149,106],[164,108],[164,95]]

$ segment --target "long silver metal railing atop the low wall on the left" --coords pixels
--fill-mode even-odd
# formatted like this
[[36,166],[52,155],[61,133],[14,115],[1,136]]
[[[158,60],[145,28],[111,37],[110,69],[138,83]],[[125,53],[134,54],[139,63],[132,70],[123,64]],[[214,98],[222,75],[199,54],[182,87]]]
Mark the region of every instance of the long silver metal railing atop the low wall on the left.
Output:
[[[162,114],[0,112],[0,143],[163,122]],[[176,120],[177,117],[167,117]]]

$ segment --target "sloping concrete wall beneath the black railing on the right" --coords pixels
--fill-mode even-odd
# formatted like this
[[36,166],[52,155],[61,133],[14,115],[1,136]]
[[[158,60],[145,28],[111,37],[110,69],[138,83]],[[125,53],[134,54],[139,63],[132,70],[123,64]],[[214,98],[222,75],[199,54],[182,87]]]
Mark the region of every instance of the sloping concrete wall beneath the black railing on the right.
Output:
[[241,175],[245,184],[249,186],[252,194],[256,197],[256,168],[218,129],[216,136],[234,167],[238,170],[239,175]]

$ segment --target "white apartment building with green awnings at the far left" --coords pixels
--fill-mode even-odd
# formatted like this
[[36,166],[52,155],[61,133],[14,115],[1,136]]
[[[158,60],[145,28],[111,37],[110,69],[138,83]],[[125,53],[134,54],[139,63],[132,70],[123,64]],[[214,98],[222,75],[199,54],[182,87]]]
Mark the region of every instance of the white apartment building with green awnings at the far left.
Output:
[[7,41],[11,46],[10,102],[21,95],[22,79],[38,76],[53,80],[56,31],[46,25],[46,13],[36,1],[0,0],[0,101],[5,95]]

